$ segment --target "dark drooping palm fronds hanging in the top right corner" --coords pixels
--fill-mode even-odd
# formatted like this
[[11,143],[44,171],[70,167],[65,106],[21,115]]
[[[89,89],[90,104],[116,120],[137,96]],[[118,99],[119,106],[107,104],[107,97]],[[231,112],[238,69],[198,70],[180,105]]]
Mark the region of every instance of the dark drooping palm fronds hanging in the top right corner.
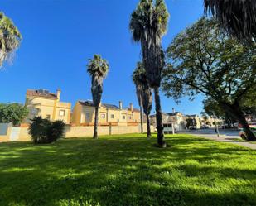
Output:
[[231,36],[242,41],[255,41],[255,0],[205,0],[207,12],[211,12]]

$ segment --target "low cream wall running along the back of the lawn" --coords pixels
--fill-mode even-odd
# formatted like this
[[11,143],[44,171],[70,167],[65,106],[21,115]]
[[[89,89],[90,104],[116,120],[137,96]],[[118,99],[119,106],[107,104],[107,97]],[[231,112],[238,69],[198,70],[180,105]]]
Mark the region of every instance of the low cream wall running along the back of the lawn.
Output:
[[[16,134],[16,141],[31,141],[31,137],[28,133],[28,127],[19,127],[19,133]],[[152,132],[154,127],[151,127]],[[8,127],[8,132],[6,136],[0,136],[0,142],[11,141],[12,136],[12,127]],[[147,132],[147,125],[143,124],[143,131]],[[117,123],[114,125],[106,125],[98,127],[98,135],[118,135],[118,134],[131,134],[131,133],[140,133],[141,127],[137,124],[123,124]],[[70,137],[92,137],[94,135],[94,126],[65,126],[65,138]]]

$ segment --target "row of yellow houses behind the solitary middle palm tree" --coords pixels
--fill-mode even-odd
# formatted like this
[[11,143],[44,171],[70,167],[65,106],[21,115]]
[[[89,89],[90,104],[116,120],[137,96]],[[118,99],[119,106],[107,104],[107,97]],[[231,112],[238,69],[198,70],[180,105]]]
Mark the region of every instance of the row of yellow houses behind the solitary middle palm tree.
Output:
[[[140,122],[139,110],[133,108],[131,103],[129,108],[123,108],[123,103],[119,102],[119,107],[114,104],[101,103],[99,106],[99,123],[109,122]],[[75,125],[94,123],[95,107],[92,101],[78,101],[75,103],[72,113],[72,123]]]

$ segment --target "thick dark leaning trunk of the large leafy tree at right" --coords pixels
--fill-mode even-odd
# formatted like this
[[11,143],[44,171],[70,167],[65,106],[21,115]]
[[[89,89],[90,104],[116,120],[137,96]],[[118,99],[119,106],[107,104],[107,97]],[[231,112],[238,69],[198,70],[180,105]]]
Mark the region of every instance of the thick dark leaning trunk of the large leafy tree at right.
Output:
[[239,103],[234,105],[225,105],[225,108],[230,113],[230,115],[237,119],[238,122],[242,125],[246,134],[247,141],[256,141],[254,132],[252,132],[250,129],[249,124],[244,117],[244,113],[239,106]]

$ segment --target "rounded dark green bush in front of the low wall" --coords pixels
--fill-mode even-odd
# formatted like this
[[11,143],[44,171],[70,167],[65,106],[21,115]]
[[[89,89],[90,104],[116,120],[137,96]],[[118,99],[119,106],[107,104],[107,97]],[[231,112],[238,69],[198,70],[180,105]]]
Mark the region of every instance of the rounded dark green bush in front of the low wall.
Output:
[[47,144],[60,139],[64,134],[64,129],[65,123],[60,120],[51,122],[42,117],[34,117],[31,119],[29,133],[35,144]]

